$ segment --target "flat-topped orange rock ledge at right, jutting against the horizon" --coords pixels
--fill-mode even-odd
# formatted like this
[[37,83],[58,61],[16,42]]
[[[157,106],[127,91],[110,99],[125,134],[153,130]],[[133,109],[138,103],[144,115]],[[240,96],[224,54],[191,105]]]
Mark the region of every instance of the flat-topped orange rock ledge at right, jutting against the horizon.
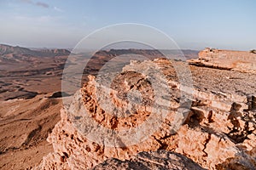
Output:
[[256,72],[256,54],[246,51],[206,48],[199,53],[198,59],[190,59],[189,62],[218,69]]

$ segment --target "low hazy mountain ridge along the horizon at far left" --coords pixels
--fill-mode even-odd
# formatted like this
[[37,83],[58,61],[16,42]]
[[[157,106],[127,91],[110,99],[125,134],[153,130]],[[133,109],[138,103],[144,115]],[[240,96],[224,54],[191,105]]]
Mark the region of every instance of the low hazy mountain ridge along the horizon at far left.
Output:
[[28,57],[53,57],[69,55],[67,49],[37,49],[22,48],[19,46],[13,47],[5,44],[0,44],[0,55],[19,54]]

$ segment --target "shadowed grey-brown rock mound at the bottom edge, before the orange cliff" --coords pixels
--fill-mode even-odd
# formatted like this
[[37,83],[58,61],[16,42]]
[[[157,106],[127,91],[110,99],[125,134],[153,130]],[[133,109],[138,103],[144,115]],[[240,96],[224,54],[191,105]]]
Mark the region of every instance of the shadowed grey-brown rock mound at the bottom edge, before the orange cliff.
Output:
[[155,152],[140,152],[137,156],[132,156],[130,160],[121,161],[119,159],[108,159],[93,170],[101,169],[177,169],[177,170],[203,170],[201,166],[190,160],[186,156],[166,150]]

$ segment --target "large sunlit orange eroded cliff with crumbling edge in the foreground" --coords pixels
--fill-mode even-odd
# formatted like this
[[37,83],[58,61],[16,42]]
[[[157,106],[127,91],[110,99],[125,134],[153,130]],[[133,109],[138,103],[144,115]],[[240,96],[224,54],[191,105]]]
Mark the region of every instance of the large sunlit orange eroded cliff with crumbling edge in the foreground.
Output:
[[[212,91],[203,84],[199,88],[195,82],[193,89],[183,88],[189,99],[181,103],[182,85],[172,64],[166,59],[131,62],[110,84],[107,83],[108,77],[100,81],[90,77],[84,88],[74,95],[73,102],[61,110],[61,122],[49,135],[48,140],[55,152],[45,156],[35,169],[86,169],[108,158],[119,159],[113,161],[113,166],[117,163],[129,166],[125,160],[137,161],[139,157],[131,157],[142,151],[156,150],[180,153],[207,169],[256,167],[255,97],[251,97],[254,94],[250,97],[241,95],[246,93],[243,88],[232,93],[223,86],[215,86],[218,92]],[[147,75],[141,73],[151,67],[157,67],[165,76],[165,80],[160,80],[155,86]],[[193,69],[196,80],[203,72]],[[214,81],[212,77],[208,78]],[[250,78],[255,78],[255,75]],[[236,82],[236,79],[229,81]],[[157,97],[155,87],[160,88],[159,84],[169,90],[159,95],[162,97],[158,100],[160,102],[154,103]],[[253,83],[248,84],[247,89],[253,91]],[[129,97],[131,93],[134,95]],[[105,102],[107,99],[112,106],[105,105],[109,104]],[[155,108],[160,117],[154,115]],[[148,131],[137,128],[150,122],[150,116],[153,116],[153,122],[154,119],[160,122],[160,126],[146,124]],[[132,133],[132,129],[142,132],[141,136]],[[130,133],[125,136],[119,132]]]

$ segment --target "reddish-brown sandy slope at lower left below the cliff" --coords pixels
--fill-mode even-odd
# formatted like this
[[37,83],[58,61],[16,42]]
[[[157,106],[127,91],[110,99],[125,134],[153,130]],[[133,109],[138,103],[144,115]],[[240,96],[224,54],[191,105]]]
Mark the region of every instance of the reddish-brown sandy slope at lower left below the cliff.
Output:
[[52,150],[46,138],[60,120],[61,99],[38,95],[33,99],[2,101],[0,106],[0,167],[33,167]]

